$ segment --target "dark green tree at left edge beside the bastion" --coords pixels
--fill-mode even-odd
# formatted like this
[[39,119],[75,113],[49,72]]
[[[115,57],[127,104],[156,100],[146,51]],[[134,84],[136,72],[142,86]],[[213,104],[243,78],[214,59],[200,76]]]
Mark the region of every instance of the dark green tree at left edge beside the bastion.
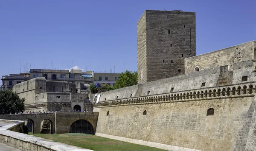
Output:
[[0,115],[23,112],[25,98],[21,98],[12,90],[0,90]]

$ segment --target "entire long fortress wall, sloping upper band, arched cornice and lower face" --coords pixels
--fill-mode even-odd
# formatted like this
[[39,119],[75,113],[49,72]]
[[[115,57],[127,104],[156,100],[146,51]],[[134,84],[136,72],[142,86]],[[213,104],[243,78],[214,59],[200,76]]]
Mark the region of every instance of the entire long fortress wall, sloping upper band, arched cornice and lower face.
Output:
[[[93,109],[99,112],[96,135],[172,151],[251,149],[256,144],[255,62],[102,92]],[[214,115],[207,116],[210,108]]]

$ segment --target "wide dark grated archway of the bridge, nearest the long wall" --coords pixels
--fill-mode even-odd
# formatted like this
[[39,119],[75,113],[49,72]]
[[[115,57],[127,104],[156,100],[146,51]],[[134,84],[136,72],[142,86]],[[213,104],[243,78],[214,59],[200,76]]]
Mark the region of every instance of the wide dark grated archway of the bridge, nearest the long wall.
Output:
[[93,126],[87,120],[76,120],[70,126],[70,133],[94,134]]

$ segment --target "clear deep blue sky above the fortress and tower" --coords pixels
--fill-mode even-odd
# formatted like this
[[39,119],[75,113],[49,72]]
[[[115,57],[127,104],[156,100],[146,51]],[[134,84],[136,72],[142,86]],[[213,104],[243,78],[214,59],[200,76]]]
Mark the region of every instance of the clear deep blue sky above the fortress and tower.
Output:
[[44,59],[46,69],[137,71],[145,9],[195,12],[197,55],[256,40],[256,0],[1,0],[0,76]]

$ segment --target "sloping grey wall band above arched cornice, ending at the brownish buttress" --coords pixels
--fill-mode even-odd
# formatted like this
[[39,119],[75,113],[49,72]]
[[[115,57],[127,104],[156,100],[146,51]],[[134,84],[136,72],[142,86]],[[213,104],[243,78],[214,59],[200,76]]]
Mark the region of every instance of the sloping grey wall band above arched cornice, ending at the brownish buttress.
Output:
[[[189,73],[157,81],[151,81],[144,84],[138,84],[131,87],[125,87],[121,89],[102,92],[99,101],[102,102],[115,100],[117,96],[118,99],[121,99],[137,96],[162,94],[171,91],[179,92],[189,89],[200,89],[202,87],[215,87],[219,85],[219,77],[221,76],[221,74],[223,74],[221,72],[221,69],[225,68],[226,70],[224,70],[224,72],[229,73],[227,66],[215,67],[200,72]],[[229,76],[230,77],[225,77],[225,79],[229,79],[230,82],[226,82],[225,84],[232,84],[233,75],[231,74]],[[205,83],[205,86],[202,86],[202,83]]]

